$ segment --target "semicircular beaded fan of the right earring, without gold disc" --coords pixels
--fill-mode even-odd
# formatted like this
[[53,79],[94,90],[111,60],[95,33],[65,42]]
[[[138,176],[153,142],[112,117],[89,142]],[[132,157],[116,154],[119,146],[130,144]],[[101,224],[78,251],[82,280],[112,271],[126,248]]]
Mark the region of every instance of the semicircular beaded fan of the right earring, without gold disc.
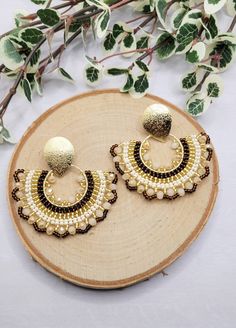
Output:
[[[176,138],[175,138],[176,139]],[[205,133],[191,135],[174,141],[178,160],[172,167],[154,169],[145,160],[150,148],[148,142],[129,141],[113,145],[110,149],[118,172],[126,187],[137,191],[148,199],[175,199],[192,193],[197,185],[210,173],[209,161],[213,149]]]

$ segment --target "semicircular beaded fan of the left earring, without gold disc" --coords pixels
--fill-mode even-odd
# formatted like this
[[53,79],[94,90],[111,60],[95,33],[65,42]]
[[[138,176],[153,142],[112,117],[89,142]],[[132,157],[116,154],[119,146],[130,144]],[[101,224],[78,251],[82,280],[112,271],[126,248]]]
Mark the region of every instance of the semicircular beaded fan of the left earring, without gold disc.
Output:
[[84,191],[73,201],[55,199],[50,191],[52,171],[18,169],[14,173],[12,197],[19,216],[38,232],[66,237],[85,233],[106,218],[117,199],[117,175],[85,171]]

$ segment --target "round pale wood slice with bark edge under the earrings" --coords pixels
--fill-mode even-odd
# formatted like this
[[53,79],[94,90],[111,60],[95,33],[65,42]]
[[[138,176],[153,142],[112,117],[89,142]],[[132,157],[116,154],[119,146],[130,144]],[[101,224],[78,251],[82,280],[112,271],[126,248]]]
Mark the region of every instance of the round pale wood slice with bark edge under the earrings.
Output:
[[[118,90],[75,96],[41,115],[26,131],[9,168],[9,207],[17,232],[32,257],[44,268],[72,283],[90,288],[120,288],[147,279],[177,259],[196,239],[212,211],[217,195],[218,163],[198,190],[174,201],[145,200],[118,182],[118,200],[103,222],[87,234],[58,239],[36,232],[20,219],[11,199],[17,168],[47,169],[42,151],[53,136],[69,138],[82,169],[115,171],[110,146],[146,133],[141,115],[149,104],[171,109],[172,133],[177,137],[203,131],[174,105],[156,96],[135,100]],[[120,176],[119,176],[120,177]],[[67,187],[68,188],[68,187]]]

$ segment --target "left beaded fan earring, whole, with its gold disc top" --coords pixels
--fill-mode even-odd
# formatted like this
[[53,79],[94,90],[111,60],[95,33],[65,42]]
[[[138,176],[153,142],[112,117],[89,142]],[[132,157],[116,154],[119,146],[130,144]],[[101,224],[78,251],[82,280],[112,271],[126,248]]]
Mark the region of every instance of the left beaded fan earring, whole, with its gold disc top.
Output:
[[[73,165],[74,147],[64,137],[50,139],[44,147],[48,170],[18,169],[12,197],[18,214],[38,232],[66,237],[85,233],[104,220],[117,199],[113,172],[82,171]],[[67,169],[76,171],[79,191],[69,199],[56,197],[53,185]]]

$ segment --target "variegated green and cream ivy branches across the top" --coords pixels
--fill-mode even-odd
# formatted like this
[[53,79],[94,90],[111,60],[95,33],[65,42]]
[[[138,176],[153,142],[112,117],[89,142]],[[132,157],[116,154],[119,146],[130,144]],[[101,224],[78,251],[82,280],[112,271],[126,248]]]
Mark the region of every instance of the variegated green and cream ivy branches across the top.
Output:
[[[150,85],[154,58],[168,61],[182,55],[191,70],[182,78],[187,94],[185,110],[201,115],[223,90],[219,73],[228,69],[235,57],[235,0],[29,0],[39,6],[34,13],[18,12],[16,26],[0,35],[0,74],[13,78],[13,85],[0,101],[0,143],[9,142],[3,117],[19,89],[31,101],[42,94],[43,75],[56,71],[67,81],[72,76],[61,67],[61,56],[78,37],[86,44],[92,35],[104,57],[85,54],[87,84],[96,86],[109,76],[124,76],[121,92],[142,97]],[[132,16],[111,26],[112,12],[127,7]],[[226,7],[232,22],[226,32],[217,23],[218,12]],[[63,34],[63,42],[54,47],[54,35]],[[90,33],[92,32],[92,33]],[[48,48],[45,47],[48,44]],[[42,49],[48,49],[43,57]],[[86,48],[85,48],[86,51]],[[124,68],[105,66],[117,57],[128,63]]]

